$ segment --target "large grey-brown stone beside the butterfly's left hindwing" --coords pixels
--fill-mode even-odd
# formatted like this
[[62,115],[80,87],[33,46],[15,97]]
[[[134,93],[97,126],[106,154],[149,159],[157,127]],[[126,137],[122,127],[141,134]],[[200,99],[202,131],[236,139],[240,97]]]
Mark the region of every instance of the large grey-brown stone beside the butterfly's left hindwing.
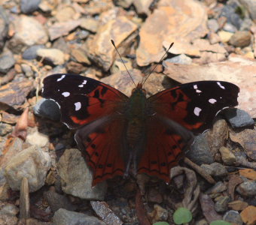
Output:
[[92,187],[92,172],[78,149],[66,149],[59,159],[57,168],[65,193],[81,199],[104,199],[107,187],[105,181]]

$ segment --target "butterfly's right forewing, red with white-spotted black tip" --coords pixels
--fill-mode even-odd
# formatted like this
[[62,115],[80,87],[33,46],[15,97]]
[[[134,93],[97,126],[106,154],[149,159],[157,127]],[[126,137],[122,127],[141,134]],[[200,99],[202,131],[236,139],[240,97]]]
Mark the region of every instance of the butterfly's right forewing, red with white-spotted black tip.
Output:
[[224,81],[200,81],[167,89],[148,98],[157,115],[176,121],[194,133],[212,126],[215,115],[235,107],[239,88]]

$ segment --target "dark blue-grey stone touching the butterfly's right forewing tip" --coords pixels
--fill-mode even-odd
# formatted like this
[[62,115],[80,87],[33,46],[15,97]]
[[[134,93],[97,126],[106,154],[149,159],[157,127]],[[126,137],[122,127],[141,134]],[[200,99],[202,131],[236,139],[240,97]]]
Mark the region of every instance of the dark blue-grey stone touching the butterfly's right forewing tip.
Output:
[[253,118],[244,110],[230,109],[224,111],[225,118],[232,127],[247,127],[254,124]]

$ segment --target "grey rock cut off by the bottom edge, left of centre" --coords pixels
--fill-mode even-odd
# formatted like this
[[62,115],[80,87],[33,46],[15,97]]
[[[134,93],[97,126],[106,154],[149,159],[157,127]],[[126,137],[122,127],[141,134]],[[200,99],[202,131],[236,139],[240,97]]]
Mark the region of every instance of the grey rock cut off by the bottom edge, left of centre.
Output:
[[103,221],[86,214],[59,208],[53,216],[54,225],[105,225]]

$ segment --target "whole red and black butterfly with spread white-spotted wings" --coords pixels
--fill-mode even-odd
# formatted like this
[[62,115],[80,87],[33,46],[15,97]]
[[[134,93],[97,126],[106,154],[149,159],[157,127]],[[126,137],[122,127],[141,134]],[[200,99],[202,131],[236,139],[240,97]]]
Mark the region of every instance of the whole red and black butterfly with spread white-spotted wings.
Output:
[[146,98],[142,83],[128,98],[89,77],[53,74],[42,95],[58,104],[61,120],[93,169],[93,185],[115,175],[147,173],[169,183],[170,169],[212,126],[215,115],[235,107],[239,88],[224,81],[185,83]]

